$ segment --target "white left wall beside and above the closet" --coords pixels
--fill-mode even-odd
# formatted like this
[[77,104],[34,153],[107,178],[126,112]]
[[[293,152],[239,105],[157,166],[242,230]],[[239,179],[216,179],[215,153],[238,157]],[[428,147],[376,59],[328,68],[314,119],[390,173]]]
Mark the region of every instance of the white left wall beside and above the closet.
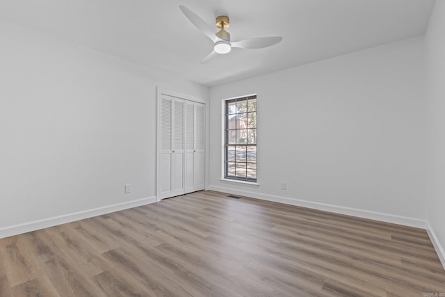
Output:
[[[209,95],[170,74],[0,21],[0,237],[38,227],[26,225],[36,220],[152,201],[156,86]],[[124,194],[124,184],[133,193]]]

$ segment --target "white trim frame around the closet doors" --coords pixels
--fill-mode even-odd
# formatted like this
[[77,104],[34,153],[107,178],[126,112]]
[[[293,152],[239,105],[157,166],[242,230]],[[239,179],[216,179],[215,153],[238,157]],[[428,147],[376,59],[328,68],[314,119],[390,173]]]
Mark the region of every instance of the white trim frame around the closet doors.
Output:
[[[179,93],[175,90],[168,90],[166,88],[162,87],[156,87],[156,202],[161,201],[164,198],[161,197],[161,99],[162,95],[167,95],[169,97],[175,97],[178,99],[184,99],[191,102],[199,102],[204,104],[204,111],[205,111],[205,122],[204,122],[204,129],[205,129],[205,164],[204,164],[204,188],[207,188],[208,180],[209,180],[209,170],[208,170],[208,164],[209,164],[209,102],[207,99],[202,99],[200,97],[196,97],[193,95],[187,95],[184,93]],[[184,176],[183,176],[184,179]],[[183,181],[184,182],[184,181]]]

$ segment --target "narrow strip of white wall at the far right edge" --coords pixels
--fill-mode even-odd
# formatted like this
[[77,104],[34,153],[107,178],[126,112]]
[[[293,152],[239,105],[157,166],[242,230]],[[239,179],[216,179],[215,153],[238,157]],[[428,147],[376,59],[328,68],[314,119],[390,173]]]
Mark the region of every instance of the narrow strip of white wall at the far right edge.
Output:
[[426,33],[430,175],[428,223],[445,266],[445,1],[436,1]]

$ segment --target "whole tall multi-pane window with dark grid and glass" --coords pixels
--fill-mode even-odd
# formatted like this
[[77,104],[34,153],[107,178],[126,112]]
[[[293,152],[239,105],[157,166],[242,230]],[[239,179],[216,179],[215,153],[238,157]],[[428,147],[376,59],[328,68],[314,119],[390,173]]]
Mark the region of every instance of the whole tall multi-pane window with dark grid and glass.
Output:
[[225,178],[257,182],[257,95],[225,101]]

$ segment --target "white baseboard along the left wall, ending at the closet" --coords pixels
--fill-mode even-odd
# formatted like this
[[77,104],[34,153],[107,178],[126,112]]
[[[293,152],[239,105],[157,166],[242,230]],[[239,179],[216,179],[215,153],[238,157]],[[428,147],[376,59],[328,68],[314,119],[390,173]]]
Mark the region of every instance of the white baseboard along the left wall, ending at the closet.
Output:
[[108,205],[106,207],[98,207],[95,209],[88,209],[86,211],[78,211],[72,214],[64,214],[62,216],[54,216],[52,218],[44,218],[42,220],[34,220],[32,222],[22,223],[18,225],[1,227],[0,239],[3,237],[52,227],[55,225],[74,222],[74,220],[83,220],[84,218],[91,218],[92,216],[101,216],[102,214],[109,214],[114,211],[120,211],[132,207],[139,207],[141,205],[150,204],[153,202],[156,202],[156,197],[142,198],[138,200]]

